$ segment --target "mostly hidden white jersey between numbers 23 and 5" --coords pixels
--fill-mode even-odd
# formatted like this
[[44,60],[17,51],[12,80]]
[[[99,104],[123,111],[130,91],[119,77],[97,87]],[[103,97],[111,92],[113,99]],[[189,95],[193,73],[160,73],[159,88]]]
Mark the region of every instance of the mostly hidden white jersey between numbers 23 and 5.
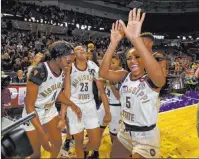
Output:
[[[108,82],[107,82],[108,83]],[[116,83],[114,85],[114,87],[116,89],[119,89],[119,84]],[[106,87],[105,87],[105,92],[106,92],[106,95],[107,95],[107,98],[108,98],[108,101],[109,101],[109,104],[120,104],[120,101],[115,97],[112,89],[111,89],[111,85],[110,84],[106,84]]]

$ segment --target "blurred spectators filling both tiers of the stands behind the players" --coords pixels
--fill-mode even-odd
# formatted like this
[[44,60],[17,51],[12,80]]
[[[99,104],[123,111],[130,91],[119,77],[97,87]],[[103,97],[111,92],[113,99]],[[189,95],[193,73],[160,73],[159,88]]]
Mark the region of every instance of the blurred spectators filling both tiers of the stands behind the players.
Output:
[[[78,22],[80,25],[98,25],[104,28],[110,28],[113,22],[111,19],[78,13],[73,10],[60,10],[57,6],[37,6],[35,4],[27,4],[13,0],[3,0],[2,6],[4,6],[2,8],[3,13],[21,15],[26,18],[35,17],[35,19],[44,19],[44,21],[48,23],[50,23],[51,20],[57,23],[67,21],[72,23]],[[26,82],[28,68],[35,63],[35,55],[38,53],[44,55],[48,53],[48,46],[56,40],[66,40],[74,46],[84,45],[87,51],[88,44],[93,43],[94,51],[92,53],[95,54],[98,62],[102,59],[110,42],[109,37],[95,39],[90,37],[86,39],[80,35],[69,37],[67,35],[23,31],[9,28],[8,22],[3,20],[1,23],[1,66],[4,72],[15,72],[14,76],[12,75],[13,83]],[[121,65],[124,69],[127,69],[124,52],[131,47],[129,41],[123,39],[117,50],[121,59]],[[167,49],[167,47],[164,47],[163,50],[169,59],[168,70],[170,70],[170,72],[173,71],[174,73],[178,72],[180,74],[186,72],[187,74],[191,74],[190,72],[194,72],[196,68],[199,67],[198,63],[193,61],[193,58],[188,56],[185,53],[186,50],[182,48],[179,50],[179,47],[175,46],[171,51]]]

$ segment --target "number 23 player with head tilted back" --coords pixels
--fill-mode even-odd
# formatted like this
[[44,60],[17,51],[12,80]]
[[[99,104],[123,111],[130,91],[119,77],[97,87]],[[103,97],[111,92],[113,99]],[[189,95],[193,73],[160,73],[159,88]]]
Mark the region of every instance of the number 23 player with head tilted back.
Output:
[[[95,150],[100,145],[100,128],[97,117],[96,103],[92,91],[93,80],[96,80],[102,102],[105,108],[104,122],[111,121],[108,99],[104,91],[104,85],[98,81],[98,66],[86,60],[86,51],[82,46],[74,49],[75,63],[72,64],[70,73],[66,75],[65,94],[82,111],[82,120],[78,120],[71,109],[67,109],[70,134],[75,139],[75,150],[77,158],[87,156],[89,150]],[[83,148],[84,129],[87,130],[89,142]]]

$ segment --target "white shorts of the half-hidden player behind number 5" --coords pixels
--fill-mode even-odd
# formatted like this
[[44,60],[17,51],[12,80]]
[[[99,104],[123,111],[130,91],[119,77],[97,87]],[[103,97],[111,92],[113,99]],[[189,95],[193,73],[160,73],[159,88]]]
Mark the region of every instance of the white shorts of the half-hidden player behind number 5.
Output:
[[[121,120],[120,120],[121,107],[111,106],[111,105],[109,106],[110,106],[110,112],[111,112],[111,117],[112,117],[112,120],[109,123],[109,131],[113,134],[117,134],[120,129],[120,123],[121,123]],[[103,104],[101,104],[100,108],[98,109],[97,115],[100,121],[100,125],[103,126],[103,119],[105,116],[105,110],[104,110]]]

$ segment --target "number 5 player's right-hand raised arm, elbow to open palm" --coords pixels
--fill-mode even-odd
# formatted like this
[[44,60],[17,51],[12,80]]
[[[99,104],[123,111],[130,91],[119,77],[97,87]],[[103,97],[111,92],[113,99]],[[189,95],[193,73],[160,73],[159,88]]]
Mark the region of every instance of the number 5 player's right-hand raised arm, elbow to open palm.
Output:
[[150,79],[156,86],[162,87],[165,84],[165,77],[163,75],[161,66],[148,51],[140,37],[144,18],[145,13],[143,13],[141,16],[141,9],[138,9],[137,11],[136,8],[134,8],[129,13],[127,27],[122,20],[119,22],[122,25],[126,37],[130,40],[135,49],[140,53],[140,56],[144,61],[146,72],[148,73]]

